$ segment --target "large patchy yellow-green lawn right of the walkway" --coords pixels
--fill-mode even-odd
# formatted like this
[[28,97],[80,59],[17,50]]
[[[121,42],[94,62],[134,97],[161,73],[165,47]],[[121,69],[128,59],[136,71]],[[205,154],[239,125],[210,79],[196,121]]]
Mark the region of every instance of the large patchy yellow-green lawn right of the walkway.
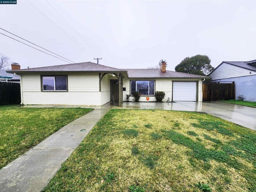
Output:
[[110,110],[44,192],[256,191],[255,143],[209,114]]

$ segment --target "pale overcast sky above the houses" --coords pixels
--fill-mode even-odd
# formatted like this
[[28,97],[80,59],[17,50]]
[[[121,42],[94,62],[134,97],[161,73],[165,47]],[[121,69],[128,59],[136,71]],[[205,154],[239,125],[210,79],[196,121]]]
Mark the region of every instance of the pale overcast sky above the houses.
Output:
[[[73,62],[98,57],[115,68],[148,68],[164,59],[174,71],[196,54],[209,56],[214,67],[256,59],[255,0],[17,0],[0,4],[0,28]],[[0,53],[21,68],[68,64],[2,34]]]

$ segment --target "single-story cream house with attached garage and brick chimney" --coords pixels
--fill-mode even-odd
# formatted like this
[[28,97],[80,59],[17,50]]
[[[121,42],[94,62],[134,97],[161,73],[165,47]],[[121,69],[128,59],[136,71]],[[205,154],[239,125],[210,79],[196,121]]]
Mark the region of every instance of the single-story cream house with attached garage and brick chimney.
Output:
[[160,69],[118,69],[92,62],[16,69],[20,75],[21,104],[67,104],[101,106],[118,101],[121,106],[134,91],[140,101],[156,101],[155,92],[163,91],[166,101],[202,101],[202,82],[209,78]]

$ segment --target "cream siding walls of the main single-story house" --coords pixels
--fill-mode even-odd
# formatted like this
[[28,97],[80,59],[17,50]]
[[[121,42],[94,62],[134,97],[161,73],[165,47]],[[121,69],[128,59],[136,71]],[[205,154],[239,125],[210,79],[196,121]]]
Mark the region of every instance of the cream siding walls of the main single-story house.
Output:
[[[112,74],[106,74],[101,81],[101,92],[99,91],[98,73],[70,73],[68,75],[68,91],[41,91],[40,74],[22,74],[22,104],[52,104],[52,105],[92,105],[100,106],[110,101],[110,80],[117,79]],[[202,79],[167,79],[167,78],[128,78],[124,75],[123,100],[126,94],[130,94],[130,80],[155,80],[155,91],[163,91],[166,96],[164,102],[172,100],[172,81],[198,81],[198,101],[202,101]],[[150,102],[156,101],[155,96],[149,96]],[[134,97],[130,97],[133,101]],[[140,101],[146,102],[146,96],[141,96]]]

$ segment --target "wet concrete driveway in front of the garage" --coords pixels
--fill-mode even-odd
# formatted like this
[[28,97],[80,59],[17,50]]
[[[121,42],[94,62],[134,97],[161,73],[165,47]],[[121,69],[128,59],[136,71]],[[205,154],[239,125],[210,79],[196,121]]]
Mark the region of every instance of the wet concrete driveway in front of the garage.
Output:
[[[111,102],[104,106],[111,106]],[[103,106],[102,106],[103,107]],[[124,102],[123,106],[113,106],[116,109],[162,109],[178,111],[206,112],[238,125],[256,130],[256,108],[222,103],[222,102]]]

